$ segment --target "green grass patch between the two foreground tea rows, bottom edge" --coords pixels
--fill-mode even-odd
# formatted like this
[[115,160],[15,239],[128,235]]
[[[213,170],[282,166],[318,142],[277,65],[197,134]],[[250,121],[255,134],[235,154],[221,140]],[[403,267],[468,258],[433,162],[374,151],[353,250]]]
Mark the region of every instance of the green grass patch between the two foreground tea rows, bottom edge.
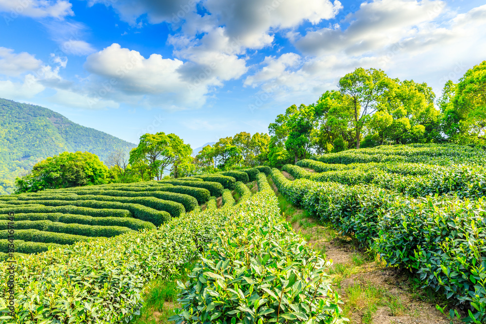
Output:
[[176,281],[186,282],[188,273],[194,267],[191,262],[184,266],[181,274],[170,279],[158,278],[153,280],[145,289],[144,305],[140,309],[140,315],[136,316],[130,324],[169,324],[167,319],[174,315],[174,308],[177,308],[179,289]]

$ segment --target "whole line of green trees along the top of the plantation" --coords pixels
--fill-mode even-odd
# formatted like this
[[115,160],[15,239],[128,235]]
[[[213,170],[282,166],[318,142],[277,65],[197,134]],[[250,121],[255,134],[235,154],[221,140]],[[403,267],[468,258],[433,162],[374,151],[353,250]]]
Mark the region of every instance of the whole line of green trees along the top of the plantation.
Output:
[[486,61],[469,69],[457,84],[448,81],[438,99],[426,83],[357,68],[316,102],[287,108],[270,123],[269,134],[241,132],[220,138],[195,157],[175,134],[145,134],[130,152],[118,149],[105,158],[109,170],[93,154],[62,153],[17,179],[17,192],[160,180],[169,177],[164,172],[180,178],[258,165],[280,168],[312,154],[383,144],[486,145],[485,89]]

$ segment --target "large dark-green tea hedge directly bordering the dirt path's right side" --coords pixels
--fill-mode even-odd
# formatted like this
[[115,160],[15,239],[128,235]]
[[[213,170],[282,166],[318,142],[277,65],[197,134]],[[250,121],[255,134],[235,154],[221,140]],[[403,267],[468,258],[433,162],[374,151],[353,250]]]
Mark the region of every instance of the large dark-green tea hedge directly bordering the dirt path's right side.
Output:
[[415,270],[424,286],[444,289],[484,323],[486,199],[410,200],[373,186],[290,182],[278,173],[273,170],[274,182],[292,202],[368,242],[388,264]]

